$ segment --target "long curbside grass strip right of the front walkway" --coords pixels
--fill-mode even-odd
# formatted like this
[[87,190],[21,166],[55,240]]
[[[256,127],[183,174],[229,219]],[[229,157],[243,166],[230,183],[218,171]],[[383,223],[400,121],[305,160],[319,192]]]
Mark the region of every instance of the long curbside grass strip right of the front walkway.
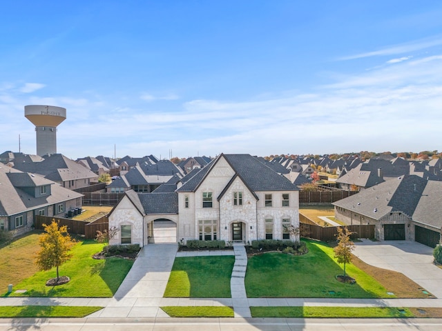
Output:
[[401,318],[414,317],[407,308],[395,307],[251,307],[252,317],[286,318]]

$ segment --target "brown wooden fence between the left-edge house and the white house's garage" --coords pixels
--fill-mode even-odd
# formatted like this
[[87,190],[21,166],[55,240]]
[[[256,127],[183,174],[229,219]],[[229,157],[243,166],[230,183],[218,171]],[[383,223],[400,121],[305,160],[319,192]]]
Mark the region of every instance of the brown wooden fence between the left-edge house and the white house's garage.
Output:
[[50,224],[52,220],[59,223],[59,226],[66,225],[68,232],[71,234],[79,234],[86,239],[95,239],[97,237],[97,230],[108,230],[108,216],[100,217],[93,222],[77,221],[75,219],[64,219],[61,217],[36,216],[34,227],[36,230],[44,230],[43,224]]

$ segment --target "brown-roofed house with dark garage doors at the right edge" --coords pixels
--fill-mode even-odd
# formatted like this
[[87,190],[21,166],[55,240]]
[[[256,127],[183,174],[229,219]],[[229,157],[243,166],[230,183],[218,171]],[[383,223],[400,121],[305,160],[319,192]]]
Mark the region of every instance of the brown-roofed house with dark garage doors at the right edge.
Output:
[[442,182],[405,175],[334,204],[348,225],[376,225],[378,240],[418,241],[434,247],[442,227]]

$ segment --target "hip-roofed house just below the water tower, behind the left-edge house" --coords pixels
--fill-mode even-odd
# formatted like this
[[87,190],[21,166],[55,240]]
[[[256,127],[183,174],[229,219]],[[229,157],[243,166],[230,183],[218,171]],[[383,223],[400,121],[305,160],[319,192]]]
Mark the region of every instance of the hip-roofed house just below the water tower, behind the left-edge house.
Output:
[[64,188],[74,190],[98,182],[98,175],[62,154],[45,155],[42,161],[32,159],[14,163],[23,172],[41,174]]

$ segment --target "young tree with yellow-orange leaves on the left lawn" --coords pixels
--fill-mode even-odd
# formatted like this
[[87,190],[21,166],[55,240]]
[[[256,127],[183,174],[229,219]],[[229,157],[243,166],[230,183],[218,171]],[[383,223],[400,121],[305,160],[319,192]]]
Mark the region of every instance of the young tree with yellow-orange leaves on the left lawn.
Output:
[[57,267],[57,281],[59,281],[58,267],[70,259],[70,248],[75,241],[68,234],[68,227],[58,226],[52,219],[50,225],[43,224],[46,233],[39,238],[40,250],[37,252],[36,264],[40,270],[50,270]]

